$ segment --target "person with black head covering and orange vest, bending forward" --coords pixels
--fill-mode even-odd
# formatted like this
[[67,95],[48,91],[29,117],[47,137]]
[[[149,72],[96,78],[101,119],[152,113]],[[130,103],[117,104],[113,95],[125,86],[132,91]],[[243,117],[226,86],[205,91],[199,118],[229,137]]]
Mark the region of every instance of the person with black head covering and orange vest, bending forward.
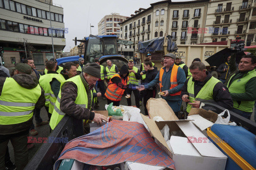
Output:
[[108,105],[113,103],[114,106],[119,106],[120,100],[125,89],[127,88],[127,82],[129,81],[128,75],[128,67],[123,65],[120,72],[113,75],[113,77],[109,80],[109,85],[105,93]]

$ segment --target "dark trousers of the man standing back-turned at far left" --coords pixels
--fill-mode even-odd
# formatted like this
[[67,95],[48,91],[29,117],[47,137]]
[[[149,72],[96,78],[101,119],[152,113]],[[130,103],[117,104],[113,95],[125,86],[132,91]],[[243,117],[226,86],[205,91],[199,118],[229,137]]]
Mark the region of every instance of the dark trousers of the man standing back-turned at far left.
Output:
[[5,169],[5,153],[8,142],[11,140],[14,150],[14,160],[17,169],[23,169],[28,163],[28,131],[25,134],[0,135],[0,169]]

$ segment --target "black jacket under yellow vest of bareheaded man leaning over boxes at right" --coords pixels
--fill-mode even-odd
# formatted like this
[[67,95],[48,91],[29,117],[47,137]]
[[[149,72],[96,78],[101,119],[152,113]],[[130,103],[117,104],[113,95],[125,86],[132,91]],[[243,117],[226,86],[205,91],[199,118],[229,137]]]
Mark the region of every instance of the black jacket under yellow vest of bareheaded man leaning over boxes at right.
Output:
[[[194,86],[195,96],[204,87],[205,83],[212,78],[212,75],[209,72],[206,72],[206,74],[207,74],[207,77],[204,82],[199,82],[199,81],[192,79],[192,81],[195,82],[195,86]],[[188,80],[189,79],[187,79],[187,81],[185,82],[185,85],[181,89],[181,96],[189,95],[188,90],[187,90],[188,89]],[[227,109],[233,108],[233,100],[231,98],[231,95],[228,91],[228,88],[222,82],[218,82],[214,86],[212,96],[213,96],[214,101],[218,105],[220,105],[224,108],[227,108]]]

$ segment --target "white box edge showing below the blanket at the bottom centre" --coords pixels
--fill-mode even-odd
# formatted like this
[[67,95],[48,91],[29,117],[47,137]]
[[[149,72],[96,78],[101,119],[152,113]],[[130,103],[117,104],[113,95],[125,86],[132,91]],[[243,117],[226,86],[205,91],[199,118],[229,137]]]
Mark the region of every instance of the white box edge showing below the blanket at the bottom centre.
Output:
[[140,164],[140,163],[133,163],[133,162],[124,162],[121,164],[121,170],[165,170],[169,169],[163,166],[153,166],[153,165],[146,165],[146,164]]

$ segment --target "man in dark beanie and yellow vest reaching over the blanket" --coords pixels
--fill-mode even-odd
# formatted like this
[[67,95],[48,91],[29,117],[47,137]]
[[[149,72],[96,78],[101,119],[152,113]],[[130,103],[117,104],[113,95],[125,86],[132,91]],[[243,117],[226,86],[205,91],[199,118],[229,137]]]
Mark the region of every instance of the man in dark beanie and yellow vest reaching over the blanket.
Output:
[[85,122],[100,124],[108,121],[106,116],[91,111],[92,89],[100,78],[100,66],[91,63],[83,67],[83,72],[61,83],[60,92],[50,120],[51,129],[58,125],[65,114]]

